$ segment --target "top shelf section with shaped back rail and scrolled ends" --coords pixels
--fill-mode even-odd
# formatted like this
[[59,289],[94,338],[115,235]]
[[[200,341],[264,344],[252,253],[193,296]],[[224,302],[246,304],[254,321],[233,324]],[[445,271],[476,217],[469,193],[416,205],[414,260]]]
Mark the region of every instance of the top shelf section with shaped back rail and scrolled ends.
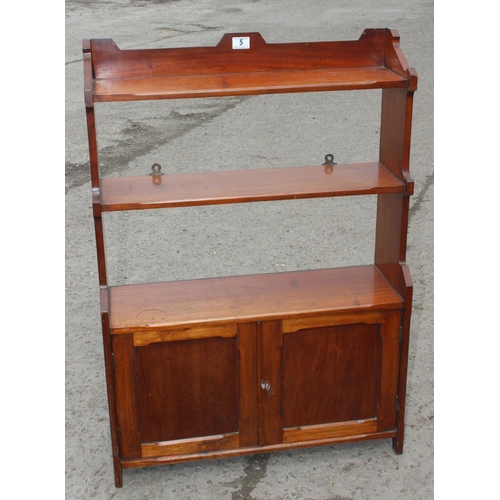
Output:
[[[248,48],[238,47],[239,42]],[[368,29],[357,41],[268,44],[229,33],[215,47],[120,50],[84,40],[86,105],[93,102],[331,90],[416,88],[396,30]],[[90,56],[90,57],[89,57]],[[90,71],[91,69],[91,71]]]

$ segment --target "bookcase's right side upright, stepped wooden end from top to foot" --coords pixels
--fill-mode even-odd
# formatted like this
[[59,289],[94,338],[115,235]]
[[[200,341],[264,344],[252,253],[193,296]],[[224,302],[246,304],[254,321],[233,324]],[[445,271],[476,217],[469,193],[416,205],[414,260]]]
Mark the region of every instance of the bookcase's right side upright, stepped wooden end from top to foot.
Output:
[[404,182],[406,188],[404,193],[378,195],[374,258],[375,265],[405,300],[401,324],[397,437],[393,440],[396,453],[402,453],[413,297],[413,284],[406,264],[406,245],[410,196],[413,194],[409,164],[413,93],[417,88],[417,75],[415,70],[408,68],[402,55],[397,31],[387,30],[385,51],[386,66],[408,78],[406,88],[382,91],[379,161]]

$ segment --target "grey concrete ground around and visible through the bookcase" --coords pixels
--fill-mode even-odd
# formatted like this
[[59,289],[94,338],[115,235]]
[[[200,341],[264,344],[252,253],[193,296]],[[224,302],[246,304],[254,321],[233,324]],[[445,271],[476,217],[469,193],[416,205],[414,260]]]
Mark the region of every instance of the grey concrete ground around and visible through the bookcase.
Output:
[[[396,28],[417,70],[407,262],[414,280],[405,449],[389,441],[124,471],[113,481],[83,103],[83,38],[122,49],[357,39]],[[66,0],[66,498],[430,499],[433,406],[433,2]],[[311,165],[377,158],[377,92],[97,105],[103,175]],[[375,155],[375,156],[374,156]],[[370,197],[107,214],[110,281],[369,263]]]

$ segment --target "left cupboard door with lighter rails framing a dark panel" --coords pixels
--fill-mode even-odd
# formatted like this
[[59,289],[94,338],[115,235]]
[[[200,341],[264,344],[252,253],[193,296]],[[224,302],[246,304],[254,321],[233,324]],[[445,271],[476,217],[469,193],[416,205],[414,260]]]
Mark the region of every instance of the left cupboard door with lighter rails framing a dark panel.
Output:
[[117,335],[113,346],[124,457],[257,444],[255,325]]

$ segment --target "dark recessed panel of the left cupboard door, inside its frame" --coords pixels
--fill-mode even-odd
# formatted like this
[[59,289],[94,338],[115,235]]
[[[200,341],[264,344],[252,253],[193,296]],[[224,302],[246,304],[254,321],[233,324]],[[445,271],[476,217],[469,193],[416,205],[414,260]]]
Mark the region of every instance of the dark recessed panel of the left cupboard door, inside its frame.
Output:
[[236,338],[136,348],[143,443],[238,431]]

